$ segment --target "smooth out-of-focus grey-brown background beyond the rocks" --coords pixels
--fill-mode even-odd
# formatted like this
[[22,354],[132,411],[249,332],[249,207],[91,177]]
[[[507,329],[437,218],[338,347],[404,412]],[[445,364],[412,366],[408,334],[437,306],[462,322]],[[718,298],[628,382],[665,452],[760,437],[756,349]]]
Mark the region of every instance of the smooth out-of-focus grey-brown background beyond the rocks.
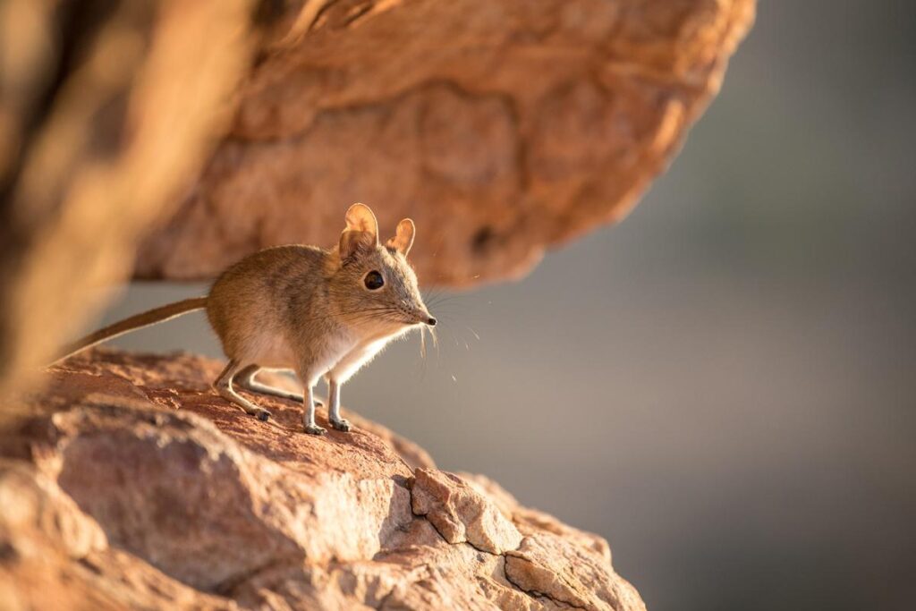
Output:
[[[761,2],[622,224],[443,295],[439,349],[344,404],[605,536],[650,609],[912,608],[914,16]],[[133,284],[104,322],[205,290]],[[202,314],[116,344],[220,356]]]

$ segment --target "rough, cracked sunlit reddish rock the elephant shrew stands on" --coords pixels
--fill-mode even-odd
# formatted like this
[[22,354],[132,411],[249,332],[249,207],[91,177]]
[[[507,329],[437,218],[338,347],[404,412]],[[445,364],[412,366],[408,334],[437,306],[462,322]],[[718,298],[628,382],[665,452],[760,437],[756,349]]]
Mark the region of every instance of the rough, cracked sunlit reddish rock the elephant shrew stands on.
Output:
[[325,437],[291,401],[246,417],[219,369],[97,350],[19,399],[39,415],[0,460],[3,608],[645,608],[600,537],[352,412]]

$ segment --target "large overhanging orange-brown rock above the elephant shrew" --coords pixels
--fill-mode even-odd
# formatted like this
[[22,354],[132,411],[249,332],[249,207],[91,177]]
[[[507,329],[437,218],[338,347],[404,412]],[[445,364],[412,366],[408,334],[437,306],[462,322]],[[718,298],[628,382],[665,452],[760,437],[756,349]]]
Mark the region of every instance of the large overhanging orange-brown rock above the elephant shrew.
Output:
[[[276,3],[275,3],[276,4]],[[232,128],[139,278],[418,226],[426,284],[518,278],[623,217],[718,91],[753,0],[340,0],[280,9]]]

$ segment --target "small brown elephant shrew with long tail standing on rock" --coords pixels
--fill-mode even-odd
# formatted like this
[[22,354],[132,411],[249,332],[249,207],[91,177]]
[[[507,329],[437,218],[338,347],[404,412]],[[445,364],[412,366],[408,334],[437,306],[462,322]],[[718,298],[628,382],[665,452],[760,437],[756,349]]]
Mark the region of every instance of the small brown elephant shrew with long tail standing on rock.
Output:
[[[395,236],[384,245],[368,206],[354,203],[345,221],[331,250],[285,245],[245,256],[216,279],[207,297],[115,322],[72,344],[58,361],[118,335],[205,309],[229,358],[213,383],[221,397],[258,420],[267,420],[270,412],[240,396],[235,384],[303,401],[305,431],[322,435],[327,430],[315,424],[312,388],[324,376],[328,420],[334,429],[349,431],[350,423],[340,413],[341,385],[392,339],[422,324],[433,326],[436,319],[426,309],[407,261],[416,231],[413,221],[398,223]],[[304,396],[256,381],[262,368],[295,371]]]

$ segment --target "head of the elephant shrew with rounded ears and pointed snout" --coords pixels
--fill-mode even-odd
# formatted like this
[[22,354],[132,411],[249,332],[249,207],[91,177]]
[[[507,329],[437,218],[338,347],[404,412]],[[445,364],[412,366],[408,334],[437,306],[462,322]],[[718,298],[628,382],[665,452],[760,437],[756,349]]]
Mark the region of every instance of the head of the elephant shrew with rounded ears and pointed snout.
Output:
[[340,317],[353,325],[392,331],[417,324],[433,326],[417,275],[407,261],[416,227],[410,219],[398,223],[394,237],[378,239],[376,215],[362,203],[346,212],[346,228],[337,246],[340,267],[333,275],[331,297]]

